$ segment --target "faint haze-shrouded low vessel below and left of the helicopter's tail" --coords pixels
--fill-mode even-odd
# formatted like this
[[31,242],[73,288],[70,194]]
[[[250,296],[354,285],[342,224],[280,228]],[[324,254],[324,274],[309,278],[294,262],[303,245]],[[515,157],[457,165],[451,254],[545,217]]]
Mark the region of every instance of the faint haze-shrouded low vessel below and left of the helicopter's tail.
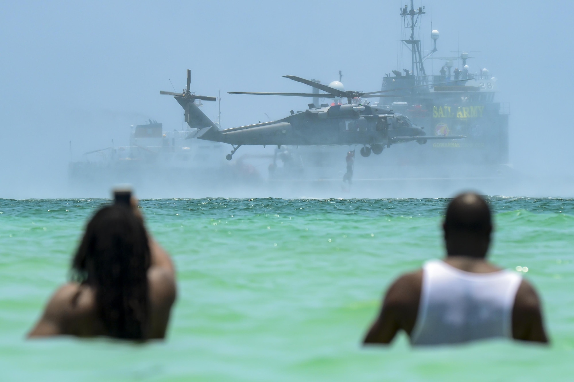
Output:
[[242,155],[230,163],[226,145],[189,135],[148,120],[132,128],[129,146],[89,151],[69,163],[69,186],[88,196],[107,196],[113,185],[130,184],[146,197],[206,197],[261,183],[251,162],[267,162],[271,156]]

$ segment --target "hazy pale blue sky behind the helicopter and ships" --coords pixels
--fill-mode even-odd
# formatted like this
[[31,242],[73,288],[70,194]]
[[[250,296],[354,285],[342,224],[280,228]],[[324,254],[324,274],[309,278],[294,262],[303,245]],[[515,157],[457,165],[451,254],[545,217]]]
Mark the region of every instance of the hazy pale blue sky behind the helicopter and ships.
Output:
[[[565,66],[572,62],[571,43],[563,36],[574,31],[568,11],[561,11],[571,3],[429,0],[414,5],[425,6],[424,50],[431,48],[430,30],[438,29],[435,57],[466,50],[474,57],[468,61],[471,72],[487,68],[497,77],[496,99],[510,103],[510,163],[535,177],[528,188],[511,194],[572,196],[574,130],[569,110],[574,81]],[[0,76],[0,197],[105,196],[70,192],[69,160],[111,146],[112,140],[127,145],[130,125],[148,118],[164,123],[166,130],[181,130],[181,107],[159,91],[171,91],[170,81],[176,91],[183,89],[188,68],[193,91],[211,96],[222,92],[223,127],[304,110],[307,99],[226,93],[308,91],[281,78],[284,75],[329,83],[338,80],[342,70],[348,89],[377,91],[385,73],[410,63],[399,41],[402,6],[404,1],[368,6],[303,1],[0,2],[0,50],[5,57]],[[426,71],[438,74],[441,63],[425,61]],[[203,111],[216,119],[215,103],[205,102]],[[269,154],[273,147],[240,150]],[[392,150],[383,155],[393,155]],[[154,197],[173,196],[169,184],[164,188]],[[322,197],[331,196],[353,195]],[[381,191],[375,197],[388,196]]]

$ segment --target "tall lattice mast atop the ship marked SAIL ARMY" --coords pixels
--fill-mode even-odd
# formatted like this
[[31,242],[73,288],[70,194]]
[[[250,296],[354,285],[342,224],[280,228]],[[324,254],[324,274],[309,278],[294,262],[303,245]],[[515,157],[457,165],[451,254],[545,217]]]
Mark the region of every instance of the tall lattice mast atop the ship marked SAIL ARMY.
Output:
[[414,0],[410,0],[410,10],[408,6],[405,5],[401,8],[401,16],[403,17],[403,36],[407,37],[409,32],[408,40],[401,40],[403,44],[406,45],[410,50],[411,64],[413,75],[424,77],[426,76],[425,67],[422,63],[422,52],[421,52],[421,15],[425,14],[425,7],[418,7],[414,9]]

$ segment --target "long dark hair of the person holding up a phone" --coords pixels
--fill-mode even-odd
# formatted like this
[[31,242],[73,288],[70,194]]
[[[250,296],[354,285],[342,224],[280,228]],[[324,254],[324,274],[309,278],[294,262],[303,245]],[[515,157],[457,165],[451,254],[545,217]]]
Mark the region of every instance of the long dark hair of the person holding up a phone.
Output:
[[110,205],[86,227],[72,278],[93,287],[107,336],[145,340],[149,321],[150,248],[144,223],[129,206]]

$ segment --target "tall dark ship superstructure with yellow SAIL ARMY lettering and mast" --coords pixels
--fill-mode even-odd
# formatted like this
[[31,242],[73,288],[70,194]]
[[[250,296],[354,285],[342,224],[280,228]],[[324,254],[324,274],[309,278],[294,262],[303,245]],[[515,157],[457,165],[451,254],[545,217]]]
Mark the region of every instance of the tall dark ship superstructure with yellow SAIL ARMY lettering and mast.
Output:
[[[486,68],[471,72],[468,52],[455,57],[435,57],[439,32],[432,30],[433,49],[421,50],[421,18],[424,7],[414,9],[410,1],[401,8],[402,43],[410,50],[409,69],[393,70],[383,78],[381,89],[393,96],[379,105],[405,114],[427,135],[465,135],[457,142],[432,142],[410,150],[416,162],[425,165],[448,163],[506,165],[508,157],[509,105],[495,100],[497,79]],[[425,61],[440,60],[440,71],[427,74]],[[384,94],[384,93],[383,93]],[[413,148],[414,149],[414,148]],[[388,153],[390,154],[390,153]],[[389,155],[391,157],[391,155]],[[404,158],[404,155],[399,155]]]

